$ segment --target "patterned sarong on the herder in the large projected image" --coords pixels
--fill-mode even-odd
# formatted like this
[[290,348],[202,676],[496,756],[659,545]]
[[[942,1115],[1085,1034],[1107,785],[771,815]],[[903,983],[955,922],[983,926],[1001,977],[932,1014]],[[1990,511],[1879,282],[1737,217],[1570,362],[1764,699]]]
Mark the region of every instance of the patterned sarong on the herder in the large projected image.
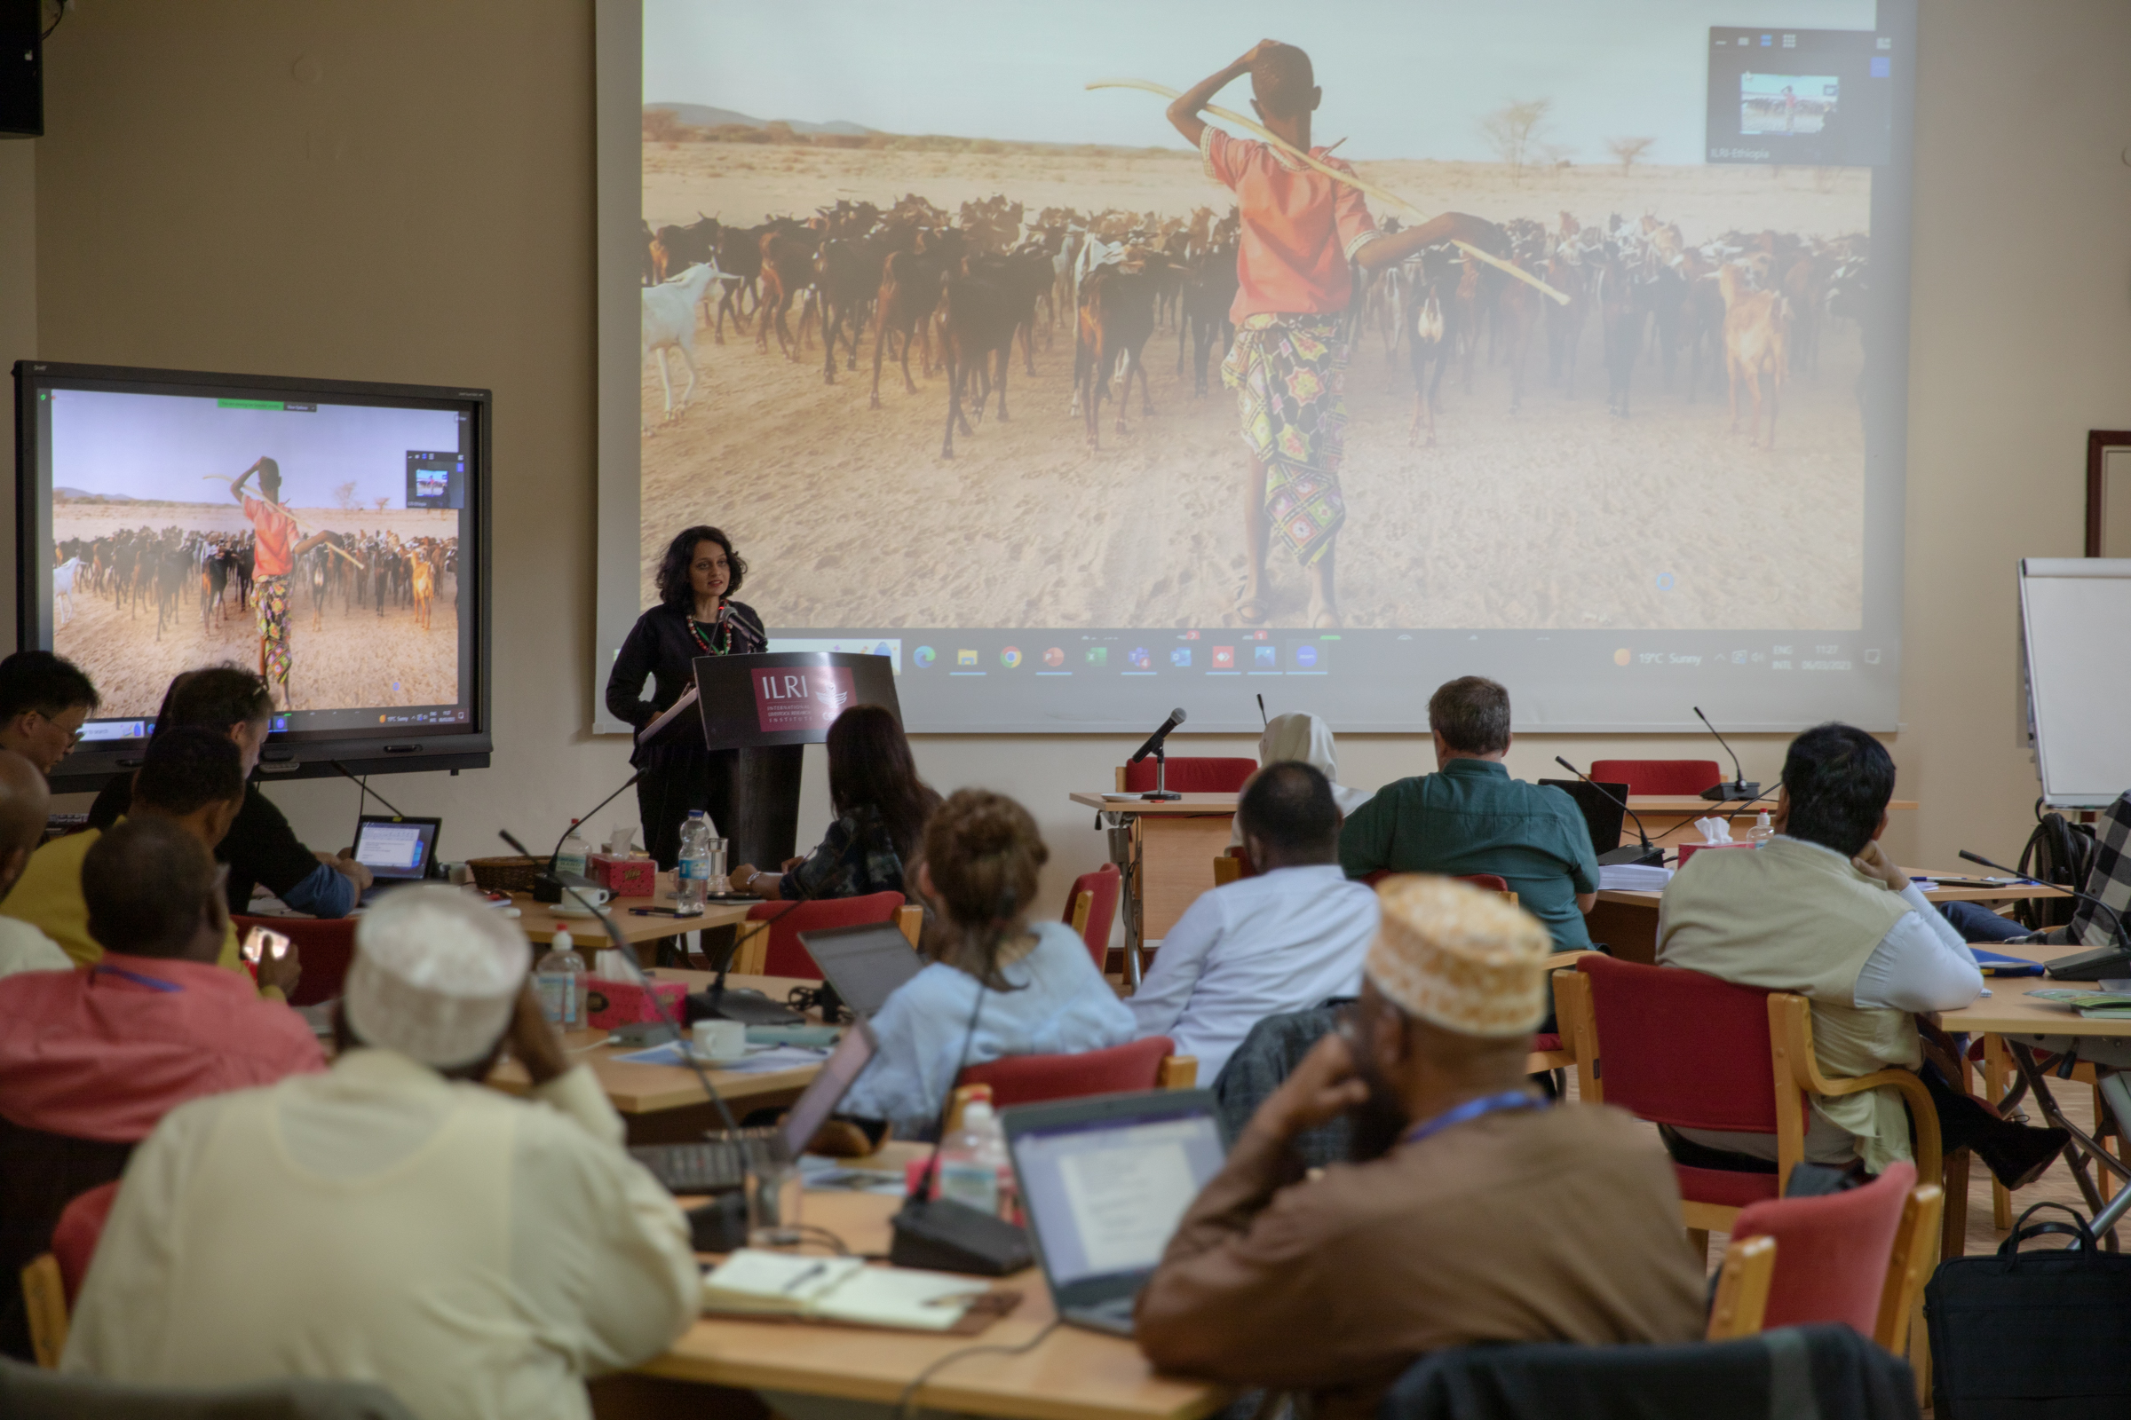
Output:
[[1347,343],[1338,315],[1251,315],[1221,362],[1236,392],[1242,441],[1266,464],[1266,515],[1302,566],[1325,556],[1347,500]]

